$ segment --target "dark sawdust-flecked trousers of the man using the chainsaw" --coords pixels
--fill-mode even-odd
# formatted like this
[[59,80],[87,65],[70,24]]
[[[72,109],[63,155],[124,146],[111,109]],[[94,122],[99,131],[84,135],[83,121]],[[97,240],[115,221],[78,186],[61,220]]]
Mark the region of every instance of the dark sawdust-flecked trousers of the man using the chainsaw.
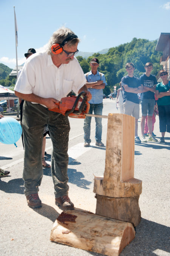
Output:
[[48,125],[53,143],[51,154],[51,175],[55,197],[68,194],[68,117],[48,110],[40,104],[25,101],[23,104],[24,169],[25,195],[36,194],[43,177],[42,143],[43,130]]

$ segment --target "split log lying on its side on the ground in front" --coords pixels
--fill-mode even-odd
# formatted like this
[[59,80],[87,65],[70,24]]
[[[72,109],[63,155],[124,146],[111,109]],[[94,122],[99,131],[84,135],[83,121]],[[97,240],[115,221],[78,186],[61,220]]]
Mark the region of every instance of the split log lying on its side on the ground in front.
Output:
[[135,237],[133,225],[80,209],[62,212],[50,240],[108,256],[117,256]]

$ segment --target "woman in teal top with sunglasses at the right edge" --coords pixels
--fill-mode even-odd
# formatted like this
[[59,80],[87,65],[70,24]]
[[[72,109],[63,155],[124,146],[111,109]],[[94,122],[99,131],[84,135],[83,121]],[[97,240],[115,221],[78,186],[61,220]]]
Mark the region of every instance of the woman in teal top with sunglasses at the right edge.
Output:
[[161,70],[159,75],[162,78],[162,82],[156,85],[159,129],[162,133],[159,142],[164,143],[165,132],[170,132],[170,82],[168,81],[168,73],[166,70]]

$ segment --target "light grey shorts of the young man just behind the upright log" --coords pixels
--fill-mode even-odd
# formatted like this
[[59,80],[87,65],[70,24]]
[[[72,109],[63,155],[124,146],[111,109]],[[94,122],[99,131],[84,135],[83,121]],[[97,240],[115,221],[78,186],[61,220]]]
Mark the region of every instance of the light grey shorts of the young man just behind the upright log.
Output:
[[124,114],[139,119],[139,104],[132,101],[124,102]]

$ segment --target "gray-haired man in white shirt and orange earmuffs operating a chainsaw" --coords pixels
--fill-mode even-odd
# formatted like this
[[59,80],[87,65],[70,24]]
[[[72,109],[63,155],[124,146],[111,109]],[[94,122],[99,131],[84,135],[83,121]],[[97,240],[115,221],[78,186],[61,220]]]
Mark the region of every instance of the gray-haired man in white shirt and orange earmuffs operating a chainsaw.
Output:
[[[68,28],[53,33],[48,51],[32,54],[25,62],[15,85],[15,95],[25,100],[23,104],[24,170],[23,180],[28,206],[42,206],[38,191],[43,177],[41,161],[43,129],[48,124],[53,143],[51,174],[54,182],[56,205],[62,209],[73,209],[68,197],[68,117],[53,112],[61,98],[73,90],[76,94],[90,92],[85,85],[82,68],[74,57],[78,52],[78,37]],[[49,110],[51,109],[51,110]]]

